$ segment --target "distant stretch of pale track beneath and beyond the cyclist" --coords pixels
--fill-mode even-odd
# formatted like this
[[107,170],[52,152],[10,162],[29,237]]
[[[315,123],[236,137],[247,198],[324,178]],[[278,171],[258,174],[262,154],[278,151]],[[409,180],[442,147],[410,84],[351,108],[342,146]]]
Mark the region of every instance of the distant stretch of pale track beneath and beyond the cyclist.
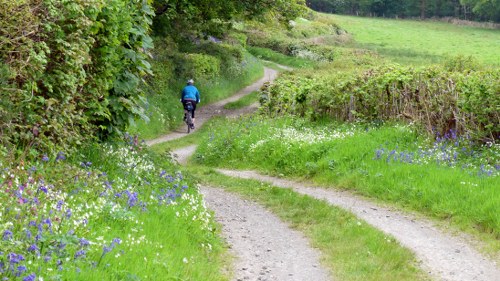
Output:
[[[224,109],[224,105],[227,103],[230,103],[230,102],[237,101],[240,98],[242,98],[243,96],[248,95],[253,91],[259,90],[260,87],[262,87],[262,85],[265,82],[272,81],[277,76],[278,76],[278,72],[276,70],[266,67],[266,68],[264,68],[264,76],[261,79],[259,79],[258,81],[256,81],[255,83],[243,88],[242,90],[237,92],[235,95],[233,95],[225,100],[219,101],[217,103],[201,106],[199,109],[196,110],[196,127],[197,128],[201,127],[205,122],[208,121],[208,119],[210,119],[213,116],[218,116],[218,115],[238,116],[241,114],[252,112],[253,110],[255,110],[256,106],[242,108],[242,109],[238,109],[238,110],[228,110],[228,109]],[[203,100],[203,93],[201,93],[201,95],[202,95],[202,100]],[[147,140],[146,144],[151,146],[151,145],[166,142],[169,140],[182,138],[182,137],[186,136],[186,134],[187,134],[187,128],[185,125],[183,125],[180,128],[172,131],[171,133],[169,133],[167,135],[161,136],[161,137],[156,138],[156,139]]]

